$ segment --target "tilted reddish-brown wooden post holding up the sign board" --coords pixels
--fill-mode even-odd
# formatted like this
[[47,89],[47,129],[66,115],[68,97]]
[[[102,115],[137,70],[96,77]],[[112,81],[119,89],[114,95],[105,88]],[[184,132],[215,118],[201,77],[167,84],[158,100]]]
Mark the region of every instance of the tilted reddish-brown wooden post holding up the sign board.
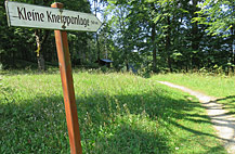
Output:
[[[51,4],[51,7],[62,9],[63,4],[55,2]],[[78,125],[77,106],[75,101],[75,90],[71,74],[71,62],[68,50],[67,33],[62,30],[54,30],[54,34],[64,93],[70,153],[81,154],[82,150],[80,143],[80,131]]]

